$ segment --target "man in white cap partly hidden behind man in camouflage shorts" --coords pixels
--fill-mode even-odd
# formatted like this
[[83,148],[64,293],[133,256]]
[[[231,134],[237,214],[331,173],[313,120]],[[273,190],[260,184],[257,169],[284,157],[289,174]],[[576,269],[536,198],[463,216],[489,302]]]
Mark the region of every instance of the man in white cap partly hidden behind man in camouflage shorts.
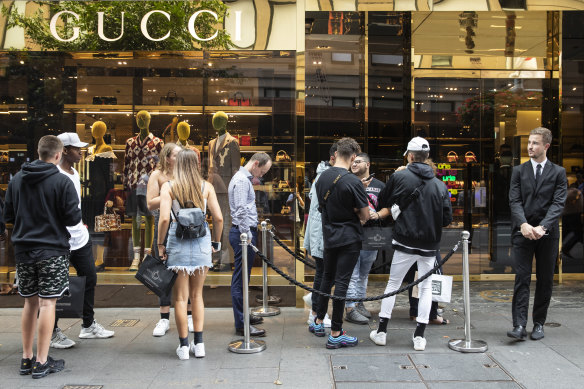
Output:
[[[81,160],[81,147],[87,146],[87,143],[81,142],[79,136],[74,132],[66,132],[58,136],[63,142],[63,157],[57,166],[59,171],[69,177],[75,186],[79,196],[79,208],[81,208],[81,181],[79,173],[73,167],[74,164]],[[73,265],[78,276],[85,276],[85,296],[83,298],[83,324],[79,337],[82,339],[103,339],[114,336],[114,331],[109,331],[94,320],[93,302],[95,297],[95,285],[97,284],[97,273],[95,272],[95,263],[93,260],[93,251],[91,248],[91,239],[87,226],[80,221],[74,227],[67,227],[71,238],[71,255],[69,263]],[[70,348],[75,342],[69,339],[59,328],[58,316],[55,319],[55,328],[51,338],[51,347],[53,348]]]

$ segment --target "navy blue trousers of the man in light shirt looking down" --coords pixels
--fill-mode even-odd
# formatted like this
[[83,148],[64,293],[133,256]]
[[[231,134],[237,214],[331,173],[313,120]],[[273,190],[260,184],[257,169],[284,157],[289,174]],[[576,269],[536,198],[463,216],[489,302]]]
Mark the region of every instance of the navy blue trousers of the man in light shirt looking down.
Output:
[[[233,304],[233,318],[235,319],[235,328],[243,328],[243,278],[241,277],[241,238],[238,228],[231,227],[229,230],[229,244],[233,247],[234,269],[231,277],[231,302]],[[251,230],[251,243],[257,246],[258,232]],[[251,274],[255,252],[251,246],[247,246],[247,280]]]

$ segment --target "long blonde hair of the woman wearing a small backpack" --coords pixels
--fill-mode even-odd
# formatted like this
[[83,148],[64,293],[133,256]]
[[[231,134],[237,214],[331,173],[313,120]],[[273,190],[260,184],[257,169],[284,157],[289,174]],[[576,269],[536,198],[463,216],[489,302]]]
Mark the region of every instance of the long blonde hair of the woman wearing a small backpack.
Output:
[[203,209],[202,183],[197,154],[191,149],[179,151],[174,164],[172,194],[181,207]]

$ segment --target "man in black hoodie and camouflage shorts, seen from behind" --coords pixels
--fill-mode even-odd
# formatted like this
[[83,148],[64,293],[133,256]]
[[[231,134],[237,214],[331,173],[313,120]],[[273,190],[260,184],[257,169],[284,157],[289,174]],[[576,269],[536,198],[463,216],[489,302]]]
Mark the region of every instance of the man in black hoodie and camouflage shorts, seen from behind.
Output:
[[[49,356],[57,299],[69,291],[69,232],[81,221],[81,209],[71,180],[57,164],[63,143],[53,135],[40,139],[39,158],[22,165],[8,184],[4,221],[14,225],[12,244],[22,311],[20,374],[42,378],[63,370],[65,361]],[[37,319],[38,315],[38,319]],[[37,355],[33,355],[38,320]]]

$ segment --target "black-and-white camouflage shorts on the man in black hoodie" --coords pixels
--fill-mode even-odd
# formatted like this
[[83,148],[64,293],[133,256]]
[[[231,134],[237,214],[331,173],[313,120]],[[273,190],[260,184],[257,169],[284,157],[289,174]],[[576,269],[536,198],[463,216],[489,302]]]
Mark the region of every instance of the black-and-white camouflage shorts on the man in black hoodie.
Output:
[[16,264],[18,293],[42,298],[61,297],[69,291],[69,256],[60,255],[36,263]]

